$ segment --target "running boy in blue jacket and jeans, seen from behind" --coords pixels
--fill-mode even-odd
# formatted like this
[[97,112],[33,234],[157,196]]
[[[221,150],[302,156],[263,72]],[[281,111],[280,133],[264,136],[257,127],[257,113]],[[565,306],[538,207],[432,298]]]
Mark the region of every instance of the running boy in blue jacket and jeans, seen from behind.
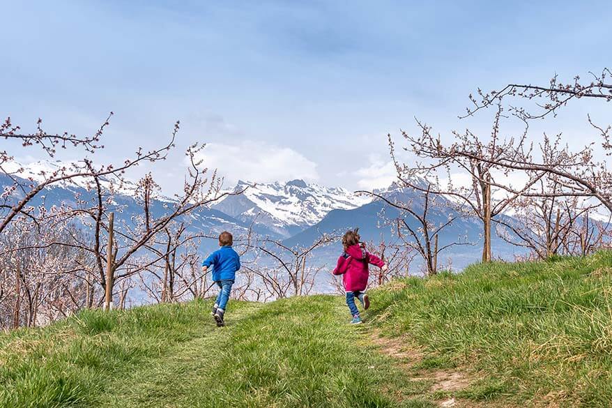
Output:
[[213,281],[220,289],[212,312],[219,327],[225,325],[223,315],[225,314],[227,301],[229,301],[229,292],[231,292],[231,285],[234,285],[234,280],[236,280],[236,271],[240,269],[240,256],[231,248],[233,243],[234,237],[227,231],[222,232],[219,236],[219,246],[221,248],[202,262],[202,272],[204,273],[211,265],[213,266]]

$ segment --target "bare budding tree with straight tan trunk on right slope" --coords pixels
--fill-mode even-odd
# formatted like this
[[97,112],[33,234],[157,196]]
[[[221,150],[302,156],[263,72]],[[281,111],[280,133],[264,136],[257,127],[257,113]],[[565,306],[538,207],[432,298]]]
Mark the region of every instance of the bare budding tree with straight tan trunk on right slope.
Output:
[[[510,170],[498,165],[497,162],[501,157],[520,160],[520,157],[523,157],[521,154],[529,154],[523,150],[526,146],[528,126],[518,138],[502,137],[500,135],[502,117],[503,109],[498,105],[488,140],[475,135],[470,130],[466,130],[465,133],[454,131],[454,142],[448,145],[442,143],[440,135],[434,135],[430,126],[417,121],[421,130],[417,137],[401,131],[402,137],[408,143],[404,150],[424,160],[413,165],[399,162],[395,144],[391,136],[388,136],[397,176],[404,186],[461,202],[462,211],[466,216],[475,216],[482,222],[482,262],[489,262],[493,258],[492,226],[496,217],[509,209],[514,199],[528,191],[544,174],[541,171],[530,172],[530,177],[521,182],[520,186],[512,185],[509,179]],[[469,152],[469,155],[460,152]],[[471,183],[457,185],[453,181],[454,173],[467,174]],[[447,179],[443,187],[438,181],[441,176]],[[435,188],[429,186],[429,190],[426,191],[422,186],[422,179],[435,180]]]

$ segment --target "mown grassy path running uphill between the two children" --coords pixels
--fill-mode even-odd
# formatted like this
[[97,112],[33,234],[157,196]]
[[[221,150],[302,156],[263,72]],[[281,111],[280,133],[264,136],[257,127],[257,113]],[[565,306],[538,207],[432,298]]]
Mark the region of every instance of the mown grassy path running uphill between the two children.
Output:
[[[117,377],[102,407],[430,407],[338,298],[250,305]],[[212,319],[211,319],[212,324]],[[390,398],[389,395],[395,395]],[[398,398],[399,397],[399,398]]]

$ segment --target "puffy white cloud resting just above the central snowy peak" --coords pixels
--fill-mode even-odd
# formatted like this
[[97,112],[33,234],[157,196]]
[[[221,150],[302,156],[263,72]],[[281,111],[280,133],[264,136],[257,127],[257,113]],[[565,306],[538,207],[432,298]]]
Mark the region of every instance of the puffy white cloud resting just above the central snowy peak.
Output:
[[240,179],[258,183],[319,179],[316,163],[288,147],[263,142],[208,143],[201,158],[204,166],[218,169],[227,183],[236,183]]

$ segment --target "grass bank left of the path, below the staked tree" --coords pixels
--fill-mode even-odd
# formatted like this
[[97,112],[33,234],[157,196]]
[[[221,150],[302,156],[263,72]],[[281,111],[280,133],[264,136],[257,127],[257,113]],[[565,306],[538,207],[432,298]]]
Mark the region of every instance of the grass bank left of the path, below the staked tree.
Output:
[[0,335],[0,406],[90,406],[112,379],[202,335],[206,312],[202,302],[86,310],[46,328]]

